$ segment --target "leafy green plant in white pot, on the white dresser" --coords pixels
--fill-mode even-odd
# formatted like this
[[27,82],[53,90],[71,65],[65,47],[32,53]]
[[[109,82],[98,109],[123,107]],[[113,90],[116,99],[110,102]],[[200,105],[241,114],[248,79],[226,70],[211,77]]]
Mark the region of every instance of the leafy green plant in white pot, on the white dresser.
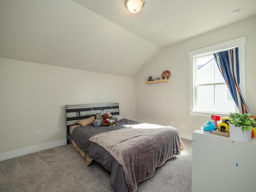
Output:
[[256,127],[250,113],[230,113],[229,136],[238,141],[252,141],[252,126]]

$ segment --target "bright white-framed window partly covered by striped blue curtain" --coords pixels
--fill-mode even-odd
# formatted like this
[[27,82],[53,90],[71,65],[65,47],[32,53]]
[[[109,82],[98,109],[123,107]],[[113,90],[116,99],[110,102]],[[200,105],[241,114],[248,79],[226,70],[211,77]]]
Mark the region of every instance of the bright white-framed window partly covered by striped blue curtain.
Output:
[[190,57],[190,115],[238,112],[230,91],[218,69],[213,53],[239,47],[240,90],[244,95],[245,37],[188,53]]

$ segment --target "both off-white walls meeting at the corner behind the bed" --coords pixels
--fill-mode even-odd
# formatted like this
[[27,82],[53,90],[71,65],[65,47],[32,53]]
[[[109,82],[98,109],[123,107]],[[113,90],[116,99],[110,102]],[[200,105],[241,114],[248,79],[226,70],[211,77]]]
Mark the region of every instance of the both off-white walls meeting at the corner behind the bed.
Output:
[[[189,115],[188,52],[242,36],[246,36],[245,99],[256,114],[255,31],[256,17],[252,17],[167,47],[136,80],[0,58],[0,156],[65,144],[66,104],[119,102],[120,114],[126,118],[162,125],[173,121],[182,135],[191,137],[210,119]],[[164,70],[171,72],[169,82],[144,84],[149,76],[161,77]],[[114,89],[104,86],[106,82]],[[42,131],[41,138],[36,138],[37,131]]]

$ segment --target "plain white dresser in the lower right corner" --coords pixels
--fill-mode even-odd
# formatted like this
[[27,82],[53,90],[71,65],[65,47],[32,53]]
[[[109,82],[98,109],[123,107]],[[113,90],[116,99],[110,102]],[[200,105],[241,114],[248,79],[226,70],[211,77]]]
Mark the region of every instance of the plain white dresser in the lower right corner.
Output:
[[256,138],[192,133],[192,192],[256,192]]

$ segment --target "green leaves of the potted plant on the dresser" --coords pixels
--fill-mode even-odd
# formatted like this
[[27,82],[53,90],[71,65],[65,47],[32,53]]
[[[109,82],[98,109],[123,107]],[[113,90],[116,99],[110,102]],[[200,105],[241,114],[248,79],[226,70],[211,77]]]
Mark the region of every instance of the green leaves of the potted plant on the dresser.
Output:
[[254,123],[254,119],[251,118],[250,113],[230,113],[229,123],[234,124],[234,126],[242,127],[242,131],[250,130],[249,126],[256,127],[256,123]]

